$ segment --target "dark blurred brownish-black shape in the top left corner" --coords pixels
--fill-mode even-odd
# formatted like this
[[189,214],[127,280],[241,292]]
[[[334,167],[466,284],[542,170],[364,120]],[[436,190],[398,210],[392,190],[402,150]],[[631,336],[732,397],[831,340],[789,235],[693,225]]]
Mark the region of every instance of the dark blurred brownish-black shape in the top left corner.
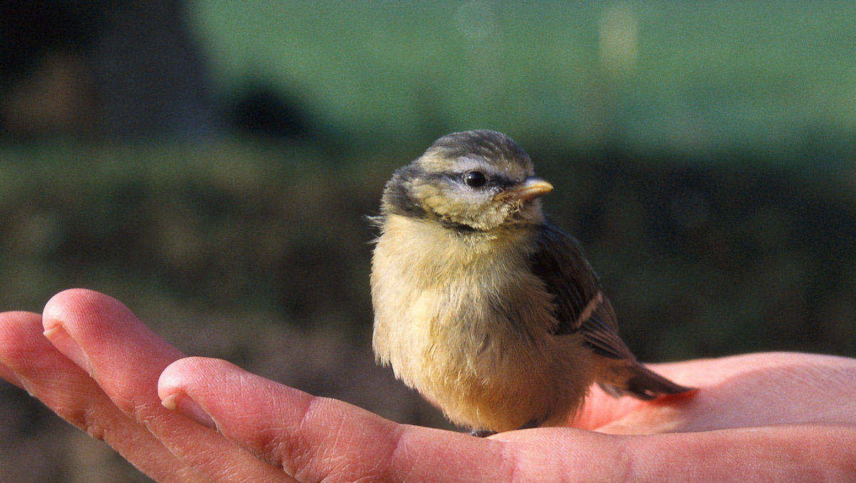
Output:
[[217,131],[180,0],[3,0],[0,135],[32,141]]

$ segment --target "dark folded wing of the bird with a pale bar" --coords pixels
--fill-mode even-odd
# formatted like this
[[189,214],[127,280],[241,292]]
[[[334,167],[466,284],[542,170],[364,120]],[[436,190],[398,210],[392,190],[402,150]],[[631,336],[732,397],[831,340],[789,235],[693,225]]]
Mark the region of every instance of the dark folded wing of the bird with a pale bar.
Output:
[[618,324],[597,274],[583,257],[580,244],[550,224],[542,225],[530,255],[532,272],[544,281],[555,304],[556,335],[580,332],[599,355],[634,360],[618,337]]

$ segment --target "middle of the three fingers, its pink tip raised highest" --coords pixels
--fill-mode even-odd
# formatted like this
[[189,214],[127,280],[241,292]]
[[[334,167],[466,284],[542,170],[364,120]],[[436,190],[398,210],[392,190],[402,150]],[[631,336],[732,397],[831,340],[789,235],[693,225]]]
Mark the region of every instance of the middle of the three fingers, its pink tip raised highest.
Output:
[[281,471],[216,432],[163,408],[158,377],[181,353],[119,301],[90,290],[66,290],[48,301],[43,324],[56,349],[84,367],[117,408],[206,479],[282,478]]

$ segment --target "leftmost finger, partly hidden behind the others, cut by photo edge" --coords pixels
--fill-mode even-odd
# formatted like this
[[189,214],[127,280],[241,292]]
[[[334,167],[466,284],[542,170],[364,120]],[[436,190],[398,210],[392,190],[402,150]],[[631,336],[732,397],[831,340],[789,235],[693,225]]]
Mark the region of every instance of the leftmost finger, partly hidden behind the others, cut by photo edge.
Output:
[[104,440],[143,473],[156,480],[193,480],[192,470],[48,343],[39,314],[0,313],[0,364],[3,379],[11,375],[62,419]]

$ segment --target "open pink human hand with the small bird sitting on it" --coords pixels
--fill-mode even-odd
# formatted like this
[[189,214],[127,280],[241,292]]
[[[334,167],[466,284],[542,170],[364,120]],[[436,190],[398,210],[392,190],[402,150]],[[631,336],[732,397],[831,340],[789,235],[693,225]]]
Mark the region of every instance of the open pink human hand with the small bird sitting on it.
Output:
[[88,290],[54,296],[41,315],[0,314],[0,364],[3,379],[156,480],[856,474],[856,361],[834,356],[659,364],[698,393],[642,402],[592,388],[573,428],[484,439],[396,424],[226,361],[184,357],[121,303]]

